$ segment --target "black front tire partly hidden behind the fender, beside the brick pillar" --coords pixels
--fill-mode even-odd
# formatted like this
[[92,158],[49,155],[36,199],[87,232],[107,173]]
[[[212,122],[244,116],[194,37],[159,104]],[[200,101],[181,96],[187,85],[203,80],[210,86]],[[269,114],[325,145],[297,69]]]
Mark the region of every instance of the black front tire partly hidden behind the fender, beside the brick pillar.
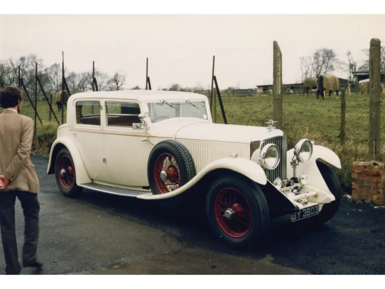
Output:
[[341,204],[342,190],[335,173],[324,163],[320,161],[316,161],[316,163],[323,179],[325,180],[327,187],[335,197],[335,201],[328,204],[324,204],[322,206],[322,209],[317,216],[309,218],[309,220],[315,223],[323,224],[329,221],[337,213]]

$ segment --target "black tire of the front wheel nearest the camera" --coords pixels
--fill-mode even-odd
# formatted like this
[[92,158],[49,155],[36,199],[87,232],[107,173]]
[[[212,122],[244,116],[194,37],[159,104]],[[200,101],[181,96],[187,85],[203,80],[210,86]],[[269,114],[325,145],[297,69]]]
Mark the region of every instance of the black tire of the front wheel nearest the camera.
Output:
[[[232,220],[237,222],[236,218],[240,218],[241,214],[237,216],[237,212],[235,213],[232,220],[227,220],[225,217],[221,217],[224,210],[221,208],[216,212],[216,206],[219,200],[219,196],[221,196],[221,203],[223,204],[223,200],[226,200],[226,197],[223,197],[224,189],[229,188],[230,192],[235,192],[235,194],[241,193],[242,197],[238,199],[238,206],[242,208],[239,212],[247,212],[245,208],[250,208],[251,210],[251,224],[246,225],[248,229],[239,230],[242,232],[236,232],[233,230],[234,235],[229,233],[229,227],[234,226],[235,223],[232,223]],[[236,192],[236,191],[238,192]],[[219,195],[221,194],[221,195]],[[231,194],[231,193],[230,193]],[[241,196],[238,194],[238,196]],[[218,197],[217,197],[218,196]],[[246,199],[247,204],[244,202]],[[236,201],[236,200],[235,200]],[[235,202],[234,201],[234,202]],[[236,209],[237,203],[233,203],[232,207]],[[224,207],[227,207],[226,205]],[[206,200],[206,213],[209,219],[209,223],[213,229],[214,235],[219,237],[222,241],[230,245],[231,247],[240,248],[240,247],[248,247],[254,244],[258,239],[265,233],[266,229],[270,224],[270,211],[265,195],[263,194],[260,187],[250,181],[249,179],[235,176],[235,175],[225,175],[217,178],[211,185],[209,189],[209,193],[207,195]],[[218,218],[217,214],[218,213]],[[245,215],[245,214],[243,214]],[[245,221],[244,219],[243,221]],[[238,224],[244,224],[239,223]],[[220,224],[222,223],[222,225]],[[238,236],[235,236],[238,234]]]

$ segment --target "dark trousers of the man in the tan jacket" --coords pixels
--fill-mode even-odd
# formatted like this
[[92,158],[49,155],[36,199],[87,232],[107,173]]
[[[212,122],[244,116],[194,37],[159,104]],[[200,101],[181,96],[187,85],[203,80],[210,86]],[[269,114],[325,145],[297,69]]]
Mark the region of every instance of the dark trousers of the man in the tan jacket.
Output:
[[37,194],[22,191],[0,191],[0,227],[7,274],[19,274],[21,271],[15,231],[16,197],[22,204],[25,218],[23,263],[36,261],[38,247],[40,204]]

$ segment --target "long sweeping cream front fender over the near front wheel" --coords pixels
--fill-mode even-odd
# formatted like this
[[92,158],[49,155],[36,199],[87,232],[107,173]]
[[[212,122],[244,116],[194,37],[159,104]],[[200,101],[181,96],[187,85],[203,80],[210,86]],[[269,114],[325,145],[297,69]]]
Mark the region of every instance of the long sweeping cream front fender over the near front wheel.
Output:
[[159,195],[143,194],[138,195],[137,198],[146,200],[159,200],[177,196],[193,187],[205,175],[217,169],[227,169],[237,172],[261,185],[265,185],[267,183],[265,171],[257,163],[244,158],[224,158],[207,165],[187,184],[175,191]]

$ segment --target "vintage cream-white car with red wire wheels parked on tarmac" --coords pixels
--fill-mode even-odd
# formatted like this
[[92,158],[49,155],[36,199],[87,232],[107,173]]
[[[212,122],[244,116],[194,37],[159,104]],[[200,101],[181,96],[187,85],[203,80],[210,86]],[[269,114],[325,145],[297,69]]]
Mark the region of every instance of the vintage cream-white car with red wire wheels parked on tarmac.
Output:
[[308,139],[287,151],[273,121],[213,123],[205,95],[91,91],[68,99],[47,173],[68,197],[83,188],[145,200],[204,196],[214,234],[246,246],[272,218],[323,223],[334,216],[341,187],[319,159],[341,168],[333,151]]

